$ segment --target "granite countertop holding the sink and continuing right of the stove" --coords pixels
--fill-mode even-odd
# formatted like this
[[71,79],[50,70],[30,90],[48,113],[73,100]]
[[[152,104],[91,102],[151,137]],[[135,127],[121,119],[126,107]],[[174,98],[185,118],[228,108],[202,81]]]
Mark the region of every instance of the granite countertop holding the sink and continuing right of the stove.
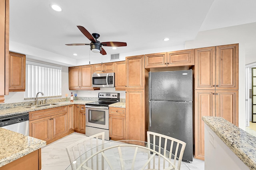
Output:
[[[20,113],[42,110],[42,109],[49,109],[49,108],[53,108],[53,107],[68,106],[68,105],[72,105],[72,104],[83,104],[83,105],[85,105],[86,103],[90,103],[90,102],[94,102],[94,101],[89,101],[89,100],[76,100],[75,101],[74,100],[74,102],[70,102],[70,101],[68,101],[68,102],[54,102],[54,104],[57,104],[57,105],[44,106],[44,107],[26,108],[26,107],[22,106],[22,107],[13,107],[13,108],[8,108],[8,109],[1,109],[0,110],[0,117],[10,116],[10,115],[18,115]],[[48,104],[50,104],[50,103],[48,103]],[[118,102],[118,103],[115,103],[115,104],[111,104],[110,107],[125,108],[125,102]]]

